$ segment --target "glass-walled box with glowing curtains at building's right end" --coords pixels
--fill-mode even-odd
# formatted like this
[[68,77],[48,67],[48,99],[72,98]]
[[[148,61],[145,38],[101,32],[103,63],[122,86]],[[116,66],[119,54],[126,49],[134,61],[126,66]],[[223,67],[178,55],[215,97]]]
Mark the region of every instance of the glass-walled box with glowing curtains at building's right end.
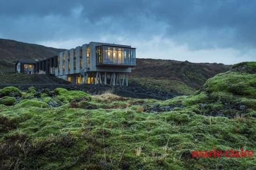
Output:
[[96,63],[97,65],[136,65],[135,48],[98,46],[96,47]]

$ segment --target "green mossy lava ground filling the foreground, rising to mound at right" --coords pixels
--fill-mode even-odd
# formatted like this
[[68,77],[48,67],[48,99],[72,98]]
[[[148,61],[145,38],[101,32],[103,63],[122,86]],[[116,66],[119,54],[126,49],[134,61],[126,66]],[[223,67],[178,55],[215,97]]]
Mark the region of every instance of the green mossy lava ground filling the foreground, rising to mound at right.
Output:
[[191,155],[256,150],[255,72],[256,62],[240,63],[195,94],[165,101],[6,87],[0,169],[254,169],[255,156]]

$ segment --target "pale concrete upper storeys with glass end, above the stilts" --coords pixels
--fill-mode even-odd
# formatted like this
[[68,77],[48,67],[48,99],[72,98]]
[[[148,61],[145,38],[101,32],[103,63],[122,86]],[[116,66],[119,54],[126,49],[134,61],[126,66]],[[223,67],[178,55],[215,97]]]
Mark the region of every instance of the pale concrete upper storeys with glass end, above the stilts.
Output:
[[131,72],[136,65],[135,48],[131,46],[90,42],[58,55],[55,75],[80,72]]

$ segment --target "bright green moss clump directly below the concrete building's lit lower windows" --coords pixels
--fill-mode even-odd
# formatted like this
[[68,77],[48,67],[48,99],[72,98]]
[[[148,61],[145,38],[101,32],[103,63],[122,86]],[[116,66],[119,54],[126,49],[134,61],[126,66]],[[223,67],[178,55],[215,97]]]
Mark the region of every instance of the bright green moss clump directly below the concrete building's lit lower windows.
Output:
[[57,94],[57,99],[60,101],[71,101],[71,100],[91,100],[91,96],[86,92],[81,91],[67,91],[67,89],[56,88],[54,92]]

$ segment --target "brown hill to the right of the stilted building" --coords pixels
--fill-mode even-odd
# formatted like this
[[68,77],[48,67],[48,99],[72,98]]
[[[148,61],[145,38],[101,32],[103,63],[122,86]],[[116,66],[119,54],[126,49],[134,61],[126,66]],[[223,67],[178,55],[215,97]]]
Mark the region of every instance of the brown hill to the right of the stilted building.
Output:
[[182,81],[193,88],[200,87],[208,78],[227,72],[231,65],[190,63],[166,59],[136,59],[131,76]]

